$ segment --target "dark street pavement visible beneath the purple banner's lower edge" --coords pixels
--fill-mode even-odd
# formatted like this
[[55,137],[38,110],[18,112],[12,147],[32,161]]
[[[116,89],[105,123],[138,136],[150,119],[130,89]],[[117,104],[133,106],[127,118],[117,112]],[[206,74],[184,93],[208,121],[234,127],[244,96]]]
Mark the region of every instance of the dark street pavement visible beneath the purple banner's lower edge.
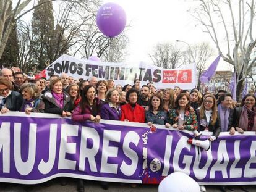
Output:
[[[108,190],[103,190],[99,182],[85,180],[85,192],[157,192],[158,185],[137,185],[136,188],[132,188],[128,183],[109,183]],[[182,184],[182,183],[181,183]],[[43,184],[38,185],[17,185],[13,183],[7,183],[2,185],[0,184],[0,191],[4,192],[72,192],[76,191],[77,180],[74,178],[69,178],[67,185],[61,186],[58,179],[54,179],[51,186],[46,187]],[[234,191],[239,192],[243,191],[239,186],[234,186]],[[254,186],[245,186],[247,191],[256,191],[256,185]],[[207,192],[216,192],[220,191],[218,186],[206,186]],[[231,190],[227,190],[228,192]],[[171,192],[171,191],[170,191]],[[190,192],[190,191],[188,191]]]

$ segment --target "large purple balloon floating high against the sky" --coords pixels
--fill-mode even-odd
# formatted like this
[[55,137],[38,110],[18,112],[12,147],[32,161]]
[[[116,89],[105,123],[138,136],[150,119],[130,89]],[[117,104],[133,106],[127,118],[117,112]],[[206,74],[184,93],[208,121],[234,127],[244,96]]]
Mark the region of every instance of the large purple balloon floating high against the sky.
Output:
[[126,27],[126,12],[116,3],[108,2],[98,10],[96,23],[104,35],[114,37]]

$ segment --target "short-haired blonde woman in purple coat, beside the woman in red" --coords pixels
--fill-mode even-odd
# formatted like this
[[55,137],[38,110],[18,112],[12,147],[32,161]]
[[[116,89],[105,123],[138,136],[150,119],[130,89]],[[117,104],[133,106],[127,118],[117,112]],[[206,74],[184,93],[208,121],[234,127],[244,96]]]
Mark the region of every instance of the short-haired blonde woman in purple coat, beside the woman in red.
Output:
[[121,109],[119,107],[119,92],[116,88],[108,90],[106,93],[106,103],[101,107],[101,119],[119,120],[121,117]]

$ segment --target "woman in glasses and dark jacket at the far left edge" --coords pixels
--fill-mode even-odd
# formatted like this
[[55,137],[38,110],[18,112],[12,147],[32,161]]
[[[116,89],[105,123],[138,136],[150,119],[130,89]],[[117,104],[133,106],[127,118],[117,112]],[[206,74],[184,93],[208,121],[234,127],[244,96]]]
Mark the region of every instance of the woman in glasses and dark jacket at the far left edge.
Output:
[[12,91],[12,83],[6,77],[0,77],[0,111],[4,114],[9,111],[20,111],[22,96]]

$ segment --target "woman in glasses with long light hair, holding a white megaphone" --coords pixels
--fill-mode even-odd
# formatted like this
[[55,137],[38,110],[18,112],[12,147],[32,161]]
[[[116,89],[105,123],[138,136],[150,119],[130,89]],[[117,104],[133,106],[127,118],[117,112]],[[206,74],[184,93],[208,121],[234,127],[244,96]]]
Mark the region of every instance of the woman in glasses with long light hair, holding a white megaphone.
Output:
[[218,118],[216,99],[213,94],[207,94],[203,99],[200,109],[197,109],[198,131],[210,131],[213,135],[208,138],[216,140],[220,134],[220,122]]

